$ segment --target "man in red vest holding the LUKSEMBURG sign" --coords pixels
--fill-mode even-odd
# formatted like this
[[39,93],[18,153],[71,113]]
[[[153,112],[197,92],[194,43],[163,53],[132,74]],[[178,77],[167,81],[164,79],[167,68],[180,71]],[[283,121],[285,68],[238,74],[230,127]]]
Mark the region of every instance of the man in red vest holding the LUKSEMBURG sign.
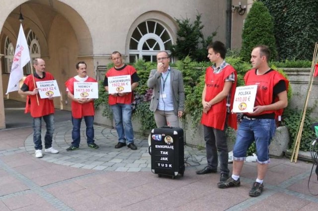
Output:
[[122,55],[119,52],[113,52],[111,55],[111,60],[114,63],[114,67],[110,68],[104,79],[104,87],[106,92],[108,92],[108,77],[113,76],[123,76],[129,75],[131,81],[131,92],[117,92],[109,95],[108,104],[113,111],[113,117],[115,119],[116,130],[118,133],[118,143],[115,148],[122,148],[126,146],[137,150],[137,146],[134,144],[134,130],[131,122],[132,116],[132,103],[134,101],[134,89],[138,86],[138,81],[140,80],[136,69],[131,65],[126,65],[123,63]]

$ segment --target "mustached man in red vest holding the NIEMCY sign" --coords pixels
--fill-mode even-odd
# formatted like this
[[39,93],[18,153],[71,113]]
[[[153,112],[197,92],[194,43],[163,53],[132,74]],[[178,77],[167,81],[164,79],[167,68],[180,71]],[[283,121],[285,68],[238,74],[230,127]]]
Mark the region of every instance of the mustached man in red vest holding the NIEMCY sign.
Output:
[[75,98],[74,97],[74,83],[75,82],[97,82],[95,79],[89,77],[86,71],[86,63],[79,61],[76,64],[78,75],[70,78],[65,82],[66,91],[68,97],[72,100],[72,140],[71,146],[66,151],[74,151],[79,149],[80,143],[80,123],[84,118],[86,125],[86,137],[87,145],[92,149],[97,149],[98,145],[94,141],[94,99],[85,97]]

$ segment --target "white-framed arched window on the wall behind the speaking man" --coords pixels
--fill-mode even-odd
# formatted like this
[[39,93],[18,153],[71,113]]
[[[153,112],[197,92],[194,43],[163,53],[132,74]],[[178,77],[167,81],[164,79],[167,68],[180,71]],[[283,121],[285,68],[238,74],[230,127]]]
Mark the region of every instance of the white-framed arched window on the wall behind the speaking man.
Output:
[[134,30],[129,45],[129,61],[137,59],[156,61],[160,51],[168,51],[172,45],[170,33],[159,22],[147,20],[140,23]]

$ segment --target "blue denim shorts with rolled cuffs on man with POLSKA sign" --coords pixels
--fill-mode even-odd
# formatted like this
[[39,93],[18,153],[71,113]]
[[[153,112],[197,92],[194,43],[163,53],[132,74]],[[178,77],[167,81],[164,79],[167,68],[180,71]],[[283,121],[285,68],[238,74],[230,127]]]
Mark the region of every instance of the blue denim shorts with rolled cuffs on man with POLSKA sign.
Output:
[[275,131],[275,119],[243,119],[239,124],[233,159],[245,160],[247,149],[255,141],[257,162],[269,163],[269,145]]

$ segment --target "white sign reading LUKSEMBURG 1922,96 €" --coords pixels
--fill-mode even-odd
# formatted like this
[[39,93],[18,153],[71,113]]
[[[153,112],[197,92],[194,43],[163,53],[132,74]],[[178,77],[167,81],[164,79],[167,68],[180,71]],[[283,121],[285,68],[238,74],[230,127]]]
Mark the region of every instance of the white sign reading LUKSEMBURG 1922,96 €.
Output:
[[130,78],[130,75],[108,77],[108,93],[114,94],[131,92]]

